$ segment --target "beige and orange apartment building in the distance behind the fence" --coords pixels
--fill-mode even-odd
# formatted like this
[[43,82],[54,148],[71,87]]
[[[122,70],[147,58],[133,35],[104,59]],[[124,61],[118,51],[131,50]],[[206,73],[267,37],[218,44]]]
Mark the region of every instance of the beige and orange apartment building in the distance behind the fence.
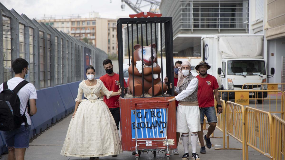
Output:
[[107,54],[118,54],[116,19],[99,18],[99,14],[89,13],[89,18],[72,17],[70,19],[38,20],[46,25],[65,32],[76,39],[88,38],[89,43]]

